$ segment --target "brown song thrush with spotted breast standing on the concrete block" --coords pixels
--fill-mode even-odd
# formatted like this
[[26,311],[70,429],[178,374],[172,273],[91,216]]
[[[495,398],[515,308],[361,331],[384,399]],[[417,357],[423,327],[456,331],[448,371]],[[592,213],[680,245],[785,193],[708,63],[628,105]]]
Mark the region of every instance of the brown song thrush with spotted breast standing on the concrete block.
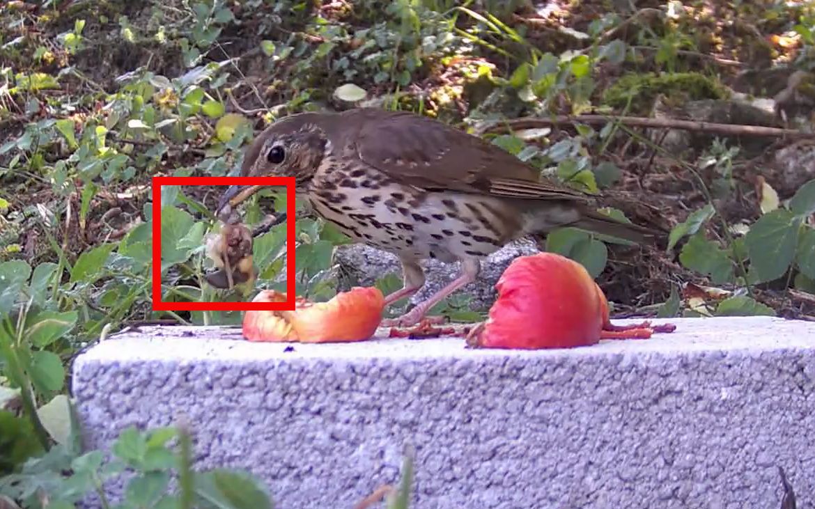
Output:
[[[420,261],[461,262],[452,283],[383,325],[407,327],[460,287],[474,282],[480,259],[526,235],[559,226],[641,242],[654,232],[598,213],[591,197],[539,172],[508,151],[463,130],[410,112],[358,108],[300,113],[254,140],[243,176],[293,176],[319,217],[355,242],[392,252],[403,287],[390,305],[425,284]],[[218,212],[261,186],[231,186]]]

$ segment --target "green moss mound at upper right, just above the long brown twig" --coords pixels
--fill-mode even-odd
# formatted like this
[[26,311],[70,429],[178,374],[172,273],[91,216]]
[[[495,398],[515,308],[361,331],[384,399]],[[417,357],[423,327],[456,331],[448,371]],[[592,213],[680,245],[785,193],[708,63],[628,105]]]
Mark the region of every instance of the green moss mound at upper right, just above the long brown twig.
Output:
[[628,98],[632,99],[632,109],[647,110],[658,94],[664,94],[677,102],[698,101],[701,99],[727,99],[729,93],[719,82],[699,72],[677,72],[657,75],[626,74],[619,78],[603,94],[603,103],[614,108],[624,108]]

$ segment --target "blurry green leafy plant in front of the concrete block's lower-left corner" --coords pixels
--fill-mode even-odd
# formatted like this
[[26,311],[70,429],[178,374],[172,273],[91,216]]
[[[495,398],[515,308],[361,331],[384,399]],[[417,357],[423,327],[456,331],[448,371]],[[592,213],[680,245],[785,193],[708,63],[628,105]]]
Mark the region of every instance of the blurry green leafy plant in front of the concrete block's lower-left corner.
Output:
[[[32,509],[67,509],[95,495],[101,507],[271,509],[267,488],[247,472],[192,470],[192,438],[184,428],[124,429],[112,443],[111,459],[100,450],[81,451],[75,431],[67,445],[25,461],[0,478],[0,495]],[[171,443],[175,441],[175,446]],[[170,489],[170,481],[177,486]],[[105,487],[124,484],[115,506]],[[15,507],[15,506],[11,506]]]

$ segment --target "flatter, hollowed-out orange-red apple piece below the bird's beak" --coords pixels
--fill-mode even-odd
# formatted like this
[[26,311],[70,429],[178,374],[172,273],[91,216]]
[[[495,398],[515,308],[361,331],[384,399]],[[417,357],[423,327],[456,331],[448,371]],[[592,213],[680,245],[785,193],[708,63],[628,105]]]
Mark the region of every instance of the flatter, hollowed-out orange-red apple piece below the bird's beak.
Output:
[[[264,290],[253,302],[284,302],[286,294]],[[250,341],[330,343],[368,340],[377,331],[385,297],[376,287],[354,287],[327,302],[298,296],[293,311],[249,310],[243,333]]]

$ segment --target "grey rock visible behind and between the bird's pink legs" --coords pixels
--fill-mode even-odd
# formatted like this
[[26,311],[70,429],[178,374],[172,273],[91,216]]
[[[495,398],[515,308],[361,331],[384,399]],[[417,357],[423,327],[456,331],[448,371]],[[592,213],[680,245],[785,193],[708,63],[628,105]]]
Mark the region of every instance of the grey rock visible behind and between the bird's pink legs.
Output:
[[[540,250],[529,239],[522,239],[507,244],[504,248],[494,252],[482,260],[481,274],[478,281],[470,283],[459,292],[473,296],[470,307],[475,311],[486,311],[496,299],[495,285],[504,273],[509,263],[516,257],[531,255]],[[347,244],[337,247],[334,252],[334,262],[339,267],[339,290],[345,291],[355,285],[372,285],[377,279],[389,273],[402,277],[402,268],[399,259],[394,255],[370,248],[363,244]],[[425,286],[411,299],[412,304],[422,301],[437,292],[452,279],[458,276],[460,264],[444,264],[436,260],[427,260],[422,264],[425,267]],[[457,292],[458,293],[458,292]]]

